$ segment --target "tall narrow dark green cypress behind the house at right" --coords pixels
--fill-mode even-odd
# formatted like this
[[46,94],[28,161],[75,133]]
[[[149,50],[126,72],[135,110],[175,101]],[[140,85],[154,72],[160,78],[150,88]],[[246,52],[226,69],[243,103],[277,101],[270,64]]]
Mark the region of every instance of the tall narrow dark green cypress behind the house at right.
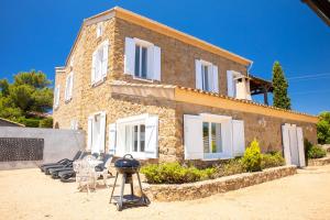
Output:
[[287,95],[288,82],[278,62],[273,65],[273,105],[282,109],[292,109],[290,98]]

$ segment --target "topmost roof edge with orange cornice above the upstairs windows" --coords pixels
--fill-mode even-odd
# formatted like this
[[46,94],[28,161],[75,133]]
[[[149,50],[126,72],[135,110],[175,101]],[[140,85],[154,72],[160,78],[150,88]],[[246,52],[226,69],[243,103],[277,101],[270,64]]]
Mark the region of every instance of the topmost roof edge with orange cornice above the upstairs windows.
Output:
[[199,38],[197,38],[195,36],[191,36],[189,34],[183,33],[183,32],[177,31],[177,30],[175,30],[173,28],[169,28],[167,25],[164,25],[162,23],[158,23],[156,21],[153,21],[153,20],[147,19],[145,16],[142,16],[140,14],[133,13],[133,12],[128,11],[125,9],[122,9],[122,8],[119,8],[119,7],[114,7],[114,8],[110,9],[110,10],[108,10],[108,11],[101,12],[99,14],[96,14],[94,16],[90,16],[90,18],[84,20],[84,23],[80,26],[78,35],[77,35],[77,37],[76,37],[76,40],[74,42],[74,45],[72,46],[72,50],[69,52],[68,57],[66,59],[66,64],[65,64],[66,66],[68,64],[70,54],[75,50],[75,46],[76,46],[76,44],[77,44],[77,42],[78,42],[78,40],[80,37],[82,28],[85,25],[90,25],[90,24],[94,24],[94,23],[97,23],[97,22],[100,22],[100,21],[105,21],[105,20],[111,19],[111,18],[120,18],[120,19],[129,21],[131,23],[144,26],[144,28],[150,29],[150,30],[155,31],[155,32],[158,32],[161,34],[164,34],[164,35],[177,38],[177,40],[179,40],[179,41],[182,41],[184,43],[187,43],[187,44],[197,46],[199,48],[202,48],[205,51],[211,52],[213,54],[218,54],[220,56],[227,57],[227,58],[229,58],[231,61],[234,61],[234,62],[240,63],[240,64],[245,65],[245,66],[249,66],[252,63],[252,61],[250,61],[248,58],[244,58],[244,57],[239,56],[239,55],[237,55],[234,53],[231,53],[231,52],[229,52],[227,50],[223,50],[221,47],[218,47],[216,45],[207,43],[207,42],[205,42],[202,40],[199,40]]

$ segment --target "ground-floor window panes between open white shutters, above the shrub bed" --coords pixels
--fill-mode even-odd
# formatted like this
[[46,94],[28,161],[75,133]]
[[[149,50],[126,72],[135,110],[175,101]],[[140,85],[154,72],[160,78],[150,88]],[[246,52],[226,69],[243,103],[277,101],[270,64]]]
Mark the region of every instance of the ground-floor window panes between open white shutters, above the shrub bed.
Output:
[[221,123],[202,122],[204,153],[221,153]]

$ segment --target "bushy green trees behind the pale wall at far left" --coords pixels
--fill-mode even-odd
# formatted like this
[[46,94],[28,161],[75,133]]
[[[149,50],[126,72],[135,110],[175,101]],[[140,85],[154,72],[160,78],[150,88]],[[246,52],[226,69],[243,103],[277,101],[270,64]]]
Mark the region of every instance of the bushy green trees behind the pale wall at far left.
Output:
[[[46,75],[35,70],[14,75],[12,84],[0,79],[0,118],[26,127],[40,127],[40,121],[44,120],[41,114],[53,107],[53,89],[50,86]],[[50,125],[42,123],[45,124]]]

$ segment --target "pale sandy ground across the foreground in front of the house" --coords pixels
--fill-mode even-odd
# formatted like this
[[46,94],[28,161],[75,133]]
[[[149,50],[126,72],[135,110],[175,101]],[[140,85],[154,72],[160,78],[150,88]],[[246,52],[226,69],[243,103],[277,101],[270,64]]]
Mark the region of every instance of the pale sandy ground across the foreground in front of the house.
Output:
[[330,166],[205,199],[116,211],[110,190],[87,196],[37,169],[0,172],[0,219],[330,219]]

